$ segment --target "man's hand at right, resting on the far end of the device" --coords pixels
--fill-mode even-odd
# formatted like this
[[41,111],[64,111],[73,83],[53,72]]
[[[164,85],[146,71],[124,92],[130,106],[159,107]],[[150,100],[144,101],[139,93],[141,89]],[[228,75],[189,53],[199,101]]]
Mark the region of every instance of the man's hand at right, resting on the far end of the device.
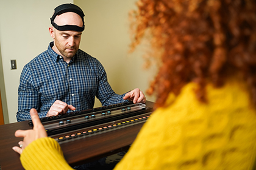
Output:
[[133,103],[146,103],[146,97],[138,88],[128,92],[124,96],[124,100],[130,100],[133,101]]

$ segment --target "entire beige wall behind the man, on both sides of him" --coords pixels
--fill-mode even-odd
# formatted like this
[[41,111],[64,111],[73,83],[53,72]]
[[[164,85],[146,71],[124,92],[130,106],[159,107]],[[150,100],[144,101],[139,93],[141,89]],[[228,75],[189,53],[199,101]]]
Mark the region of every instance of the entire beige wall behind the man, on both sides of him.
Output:
[[[127,53],[130,42],[128,12],[135,8],[134,0],[0,1],[0,87],[1,94],[5,90],[2,98],[4,117],[10,123],[16,122],[23,66],[47,49],[52,41],[48,32],[49,18],[57,5],[66,2],[74,2],[84,10],[86,30],[80,49],[101,61],[116,93],[123,94],[136,87],[145,91],[154,77],[154,71],[142,69],[140,51]],[[16,70],[10,70],[10,60],[16,60]],[[154,101],[154,97],[148,99]],[[98,106],[96,101],[94,107]]]

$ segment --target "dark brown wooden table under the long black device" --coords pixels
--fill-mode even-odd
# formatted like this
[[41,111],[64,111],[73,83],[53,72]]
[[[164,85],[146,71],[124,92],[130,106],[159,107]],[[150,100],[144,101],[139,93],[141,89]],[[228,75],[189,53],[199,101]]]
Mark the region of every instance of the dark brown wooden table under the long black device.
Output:
[[[153,105],[154,103],[151,101],[146,101],[146,107],[153,107]],[[126,151],[137,137],[142,126],[143,123],[135,124],[116,131],[62,143],[60,146],[69,165],[81,165],[107,155]],[[31,129],[29,121],[0,126],[0,166],[2,170],[23,169],[20,163],[20,154],[12,150],[13,146],[18,146],[18,142],[23,140],[23,138],[14,136],[18,129]]]

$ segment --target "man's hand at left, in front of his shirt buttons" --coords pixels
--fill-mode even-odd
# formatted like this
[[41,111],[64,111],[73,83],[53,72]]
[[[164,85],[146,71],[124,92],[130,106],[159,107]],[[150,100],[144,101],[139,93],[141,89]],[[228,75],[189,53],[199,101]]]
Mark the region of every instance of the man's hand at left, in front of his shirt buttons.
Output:
[[72,105],[68,105],[64,103],[63,101],[56,100],[54,104],[52,104],[51,108],[49,109],[46,117],[52,117],[57,115],[66,114],[68,112],[68,109],[70,110],[76,110],[76,108]]

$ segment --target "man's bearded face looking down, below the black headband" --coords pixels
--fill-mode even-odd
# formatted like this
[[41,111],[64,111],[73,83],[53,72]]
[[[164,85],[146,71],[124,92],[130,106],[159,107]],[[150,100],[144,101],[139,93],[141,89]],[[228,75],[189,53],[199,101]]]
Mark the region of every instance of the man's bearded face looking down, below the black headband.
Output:
[[82,32],[54,29],[54,45],[64,58],[71,59],[79,49]]

